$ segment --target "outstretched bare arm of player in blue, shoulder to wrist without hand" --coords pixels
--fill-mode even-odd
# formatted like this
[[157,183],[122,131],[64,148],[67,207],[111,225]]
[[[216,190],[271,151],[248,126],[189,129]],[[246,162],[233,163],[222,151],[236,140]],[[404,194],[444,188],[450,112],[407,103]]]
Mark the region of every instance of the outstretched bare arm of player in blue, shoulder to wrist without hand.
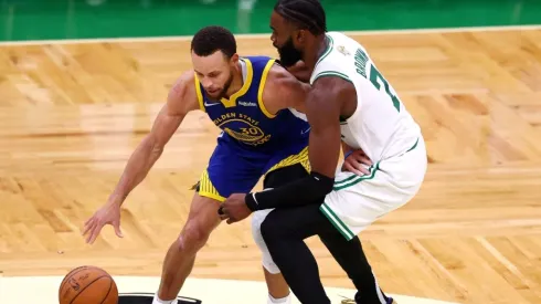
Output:
[[184,73],[168,94],[167,103],[156,117],[150,133],[131,154],[109,201],[121,205],[160,158],[184,116],[199,108],[194,92],[193,72]]

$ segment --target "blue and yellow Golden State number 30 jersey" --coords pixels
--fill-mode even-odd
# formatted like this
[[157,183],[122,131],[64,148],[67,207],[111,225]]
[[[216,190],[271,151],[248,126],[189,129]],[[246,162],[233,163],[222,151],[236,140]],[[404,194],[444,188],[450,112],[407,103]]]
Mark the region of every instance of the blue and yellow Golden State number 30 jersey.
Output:
[[254,151],[274,151],[288,145],[307,146],[310,126],[290,109],[272,115],[263,104],[263,90],[275,60],[244,56],[246,74],[243,86],[220,102],[210,99],[195,75],[195,90],[202,111],[223,130],[222,140]]

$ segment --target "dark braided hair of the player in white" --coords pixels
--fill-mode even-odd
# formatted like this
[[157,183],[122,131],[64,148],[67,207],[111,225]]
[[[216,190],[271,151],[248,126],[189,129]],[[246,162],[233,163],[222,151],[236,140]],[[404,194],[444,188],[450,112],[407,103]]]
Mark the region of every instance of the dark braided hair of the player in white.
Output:
[[278,0],[274,10],[301,30],[315,35],[327,32],[327,20],[319,0]]

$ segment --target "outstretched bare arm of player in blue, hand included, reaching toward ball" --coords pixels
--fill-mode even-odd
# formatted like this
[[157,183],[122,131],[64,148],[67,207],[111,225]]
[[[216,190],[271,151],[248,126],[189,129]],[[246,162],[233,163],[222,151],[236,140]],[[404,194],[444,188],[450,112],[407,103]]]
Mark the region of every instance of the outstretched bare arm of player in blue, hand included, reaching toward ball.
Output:
[[113,224],[118,237],[120,232],[120,206],[126,197],[139,185],[155,163],[160,158],[166,144],[178,129],[184,116],[199,108],[194,92],[193,72],[187,72],[173,85],[167,103],[156,117],[150,133],[131,154],[115,190],[107,202],[86,222],[83,234],[87,243],[93,243],[105,224]]

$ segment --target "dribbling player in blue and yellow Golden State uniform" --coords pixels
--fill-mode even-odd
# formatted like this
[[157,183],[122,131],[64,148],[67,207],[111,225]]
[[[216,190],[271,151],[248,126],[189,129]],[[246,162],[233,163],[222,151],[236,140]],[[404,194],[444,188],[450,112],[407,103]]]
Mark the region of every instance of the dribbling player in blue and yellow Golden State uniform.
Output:
[[[220,27],[200,30],[193,36],[191,51],[193,71],[182,74],[173,85],[107,203],[84,228],[88,243],[95,241],[105,224],[112,224],[121,237],[120,206],[145,179],[189,112],[205,112],[223,130],[197,186],[188,220],[165,258],[153,304],[176,303],[195,254],[221,222],[218,210],[226,197],[252,191],[262,176],[265,176],[265,188],[275,188],[309,171],[310,127],[294,109],[303,111],[307,85],[269,57],[240,57],[234,36]],[[254,238],[264,256],[268,303],[289,303],[289,289],[272,262],[258,230],[264,212],[254,213],[253,227],[257,228]]]

